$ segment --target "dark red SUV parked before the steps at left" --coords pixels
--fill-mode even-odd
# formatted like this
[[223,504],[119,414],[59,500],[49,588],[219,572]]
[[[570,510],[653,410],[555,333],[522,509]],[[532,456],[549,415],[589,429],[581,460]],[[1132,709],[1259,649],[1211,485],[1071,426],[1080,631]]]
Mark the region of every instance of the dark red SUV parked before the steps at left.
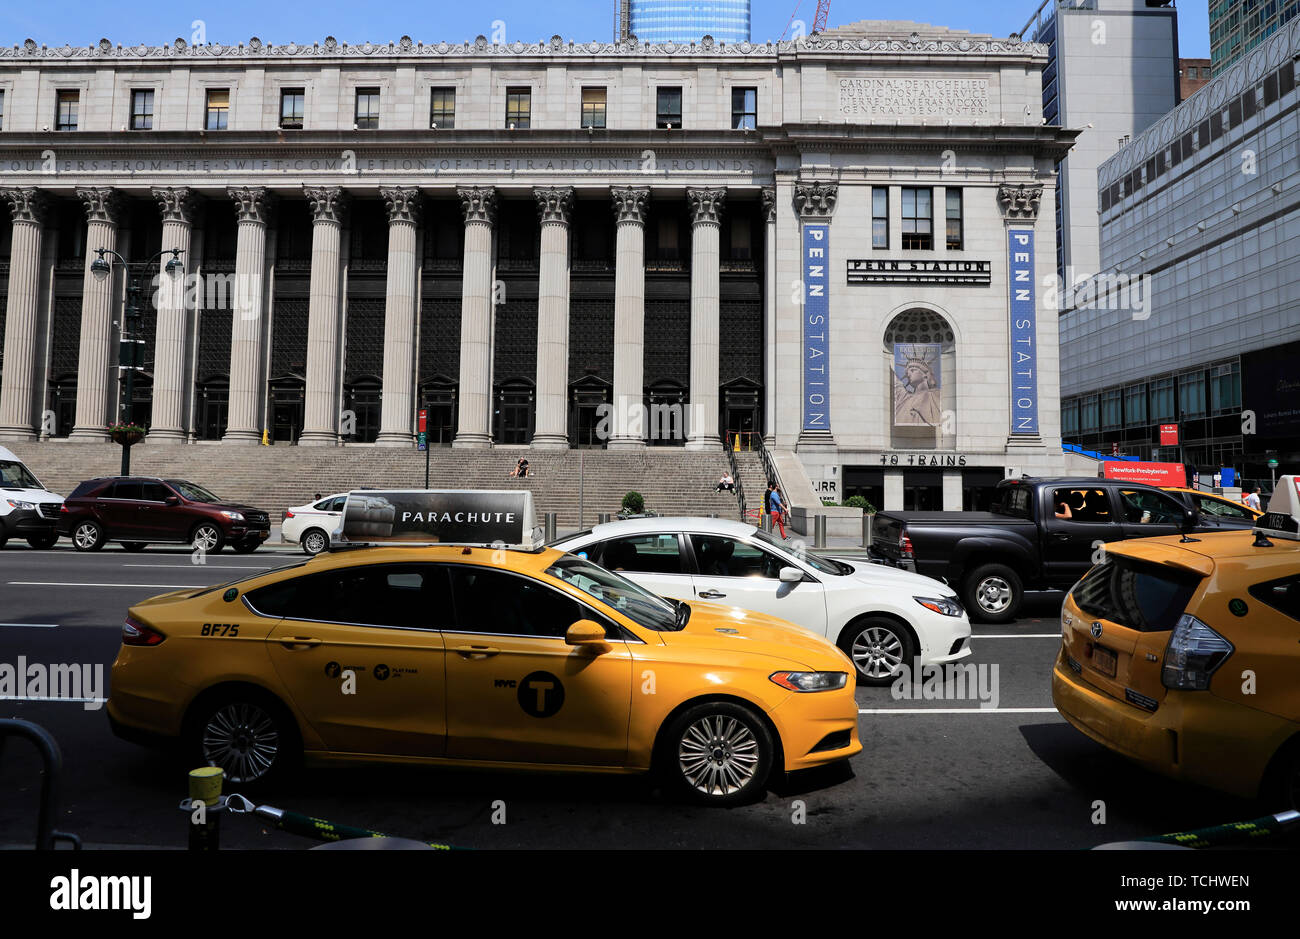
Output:
[[166,542],[212,553],[230,545],[248,554],[270,535],[270,518],[252,506],[222,502],[186,480],[105,476],[82,483],[64,501],[58,532],[78,551],[118,541],[129,551]]

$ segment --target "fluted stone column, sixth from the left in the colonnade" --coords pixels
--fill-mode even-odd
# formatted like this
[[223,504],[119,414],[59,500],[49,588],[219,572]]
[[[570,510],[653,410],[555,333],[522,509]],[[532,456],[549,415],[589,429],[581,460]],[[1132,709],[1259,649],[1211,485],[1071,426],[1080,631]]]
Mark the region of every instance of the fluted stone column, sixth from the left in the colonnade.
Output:
[[389,207],[389,281],[384,299],[384,395],[380,446],[411,446],[415,416],[416,225],[419,189],[380,187]]

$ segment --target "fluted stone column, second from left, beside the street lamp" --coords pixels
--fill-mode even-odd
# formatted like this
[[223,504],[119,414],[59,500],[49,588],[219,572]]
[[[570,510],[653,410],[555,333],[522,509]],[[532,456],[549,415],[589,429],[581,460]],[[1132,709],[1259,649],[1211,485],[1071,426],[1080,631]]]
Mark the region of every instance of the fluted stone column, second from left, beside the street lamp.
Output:
[[[117,312],[117,272],[121,264],[112,260],[113,271],[96,274],[90,269],[98,248],[117,247],[117,225],[122,217],[121,195],[114,189],[78,189],[77,198],[86,205],[86,276],[82,282],[81,351],[77,356],[77,420],[70,440],[100,442],[108,440],[108,421],[116,420],[113,403],[117,389],[117,356],[113,354],[113,315]],[[105,255],[108,256],[108,255]]]

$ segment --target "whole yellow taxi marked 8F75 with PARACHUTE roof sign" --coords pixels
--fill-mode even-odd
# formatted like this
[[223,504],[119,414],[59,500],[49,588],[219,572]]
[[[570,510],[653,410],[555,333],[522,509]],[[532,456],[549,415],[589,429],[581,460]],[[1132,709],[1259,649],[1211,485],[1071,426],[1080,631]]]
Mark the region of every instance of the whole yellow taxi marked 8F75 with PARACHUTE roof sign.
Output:
[[[482,524],[516,515],[498,511],[511,498],[514,541]],[[114,732],[179,741],[239,786],[299,757],[654,770],[719,805],[763,792],[774,770],[861,752],[854,670],[835,644],[666,601],[536,546],[530,518],[528,493],[352,493],[335,550],[133,606]]]

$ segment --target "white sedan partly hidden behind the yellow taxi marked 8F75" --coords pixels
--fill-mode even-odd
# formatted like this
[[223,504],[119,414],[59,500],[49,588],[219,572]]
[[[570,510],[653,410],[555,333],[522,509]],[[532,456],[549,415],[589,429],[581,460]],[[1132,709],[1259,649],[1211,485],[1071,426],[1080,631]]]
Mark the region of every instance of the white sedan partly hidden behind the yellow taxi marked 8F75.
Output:
[[611,522],[555,548],[662,597],[767,613],[826,636],[853,659],[861,684],[887,685],[905,665],[971,654],[970,620],[946,584],[866,559],[796,551],[741,522]]

